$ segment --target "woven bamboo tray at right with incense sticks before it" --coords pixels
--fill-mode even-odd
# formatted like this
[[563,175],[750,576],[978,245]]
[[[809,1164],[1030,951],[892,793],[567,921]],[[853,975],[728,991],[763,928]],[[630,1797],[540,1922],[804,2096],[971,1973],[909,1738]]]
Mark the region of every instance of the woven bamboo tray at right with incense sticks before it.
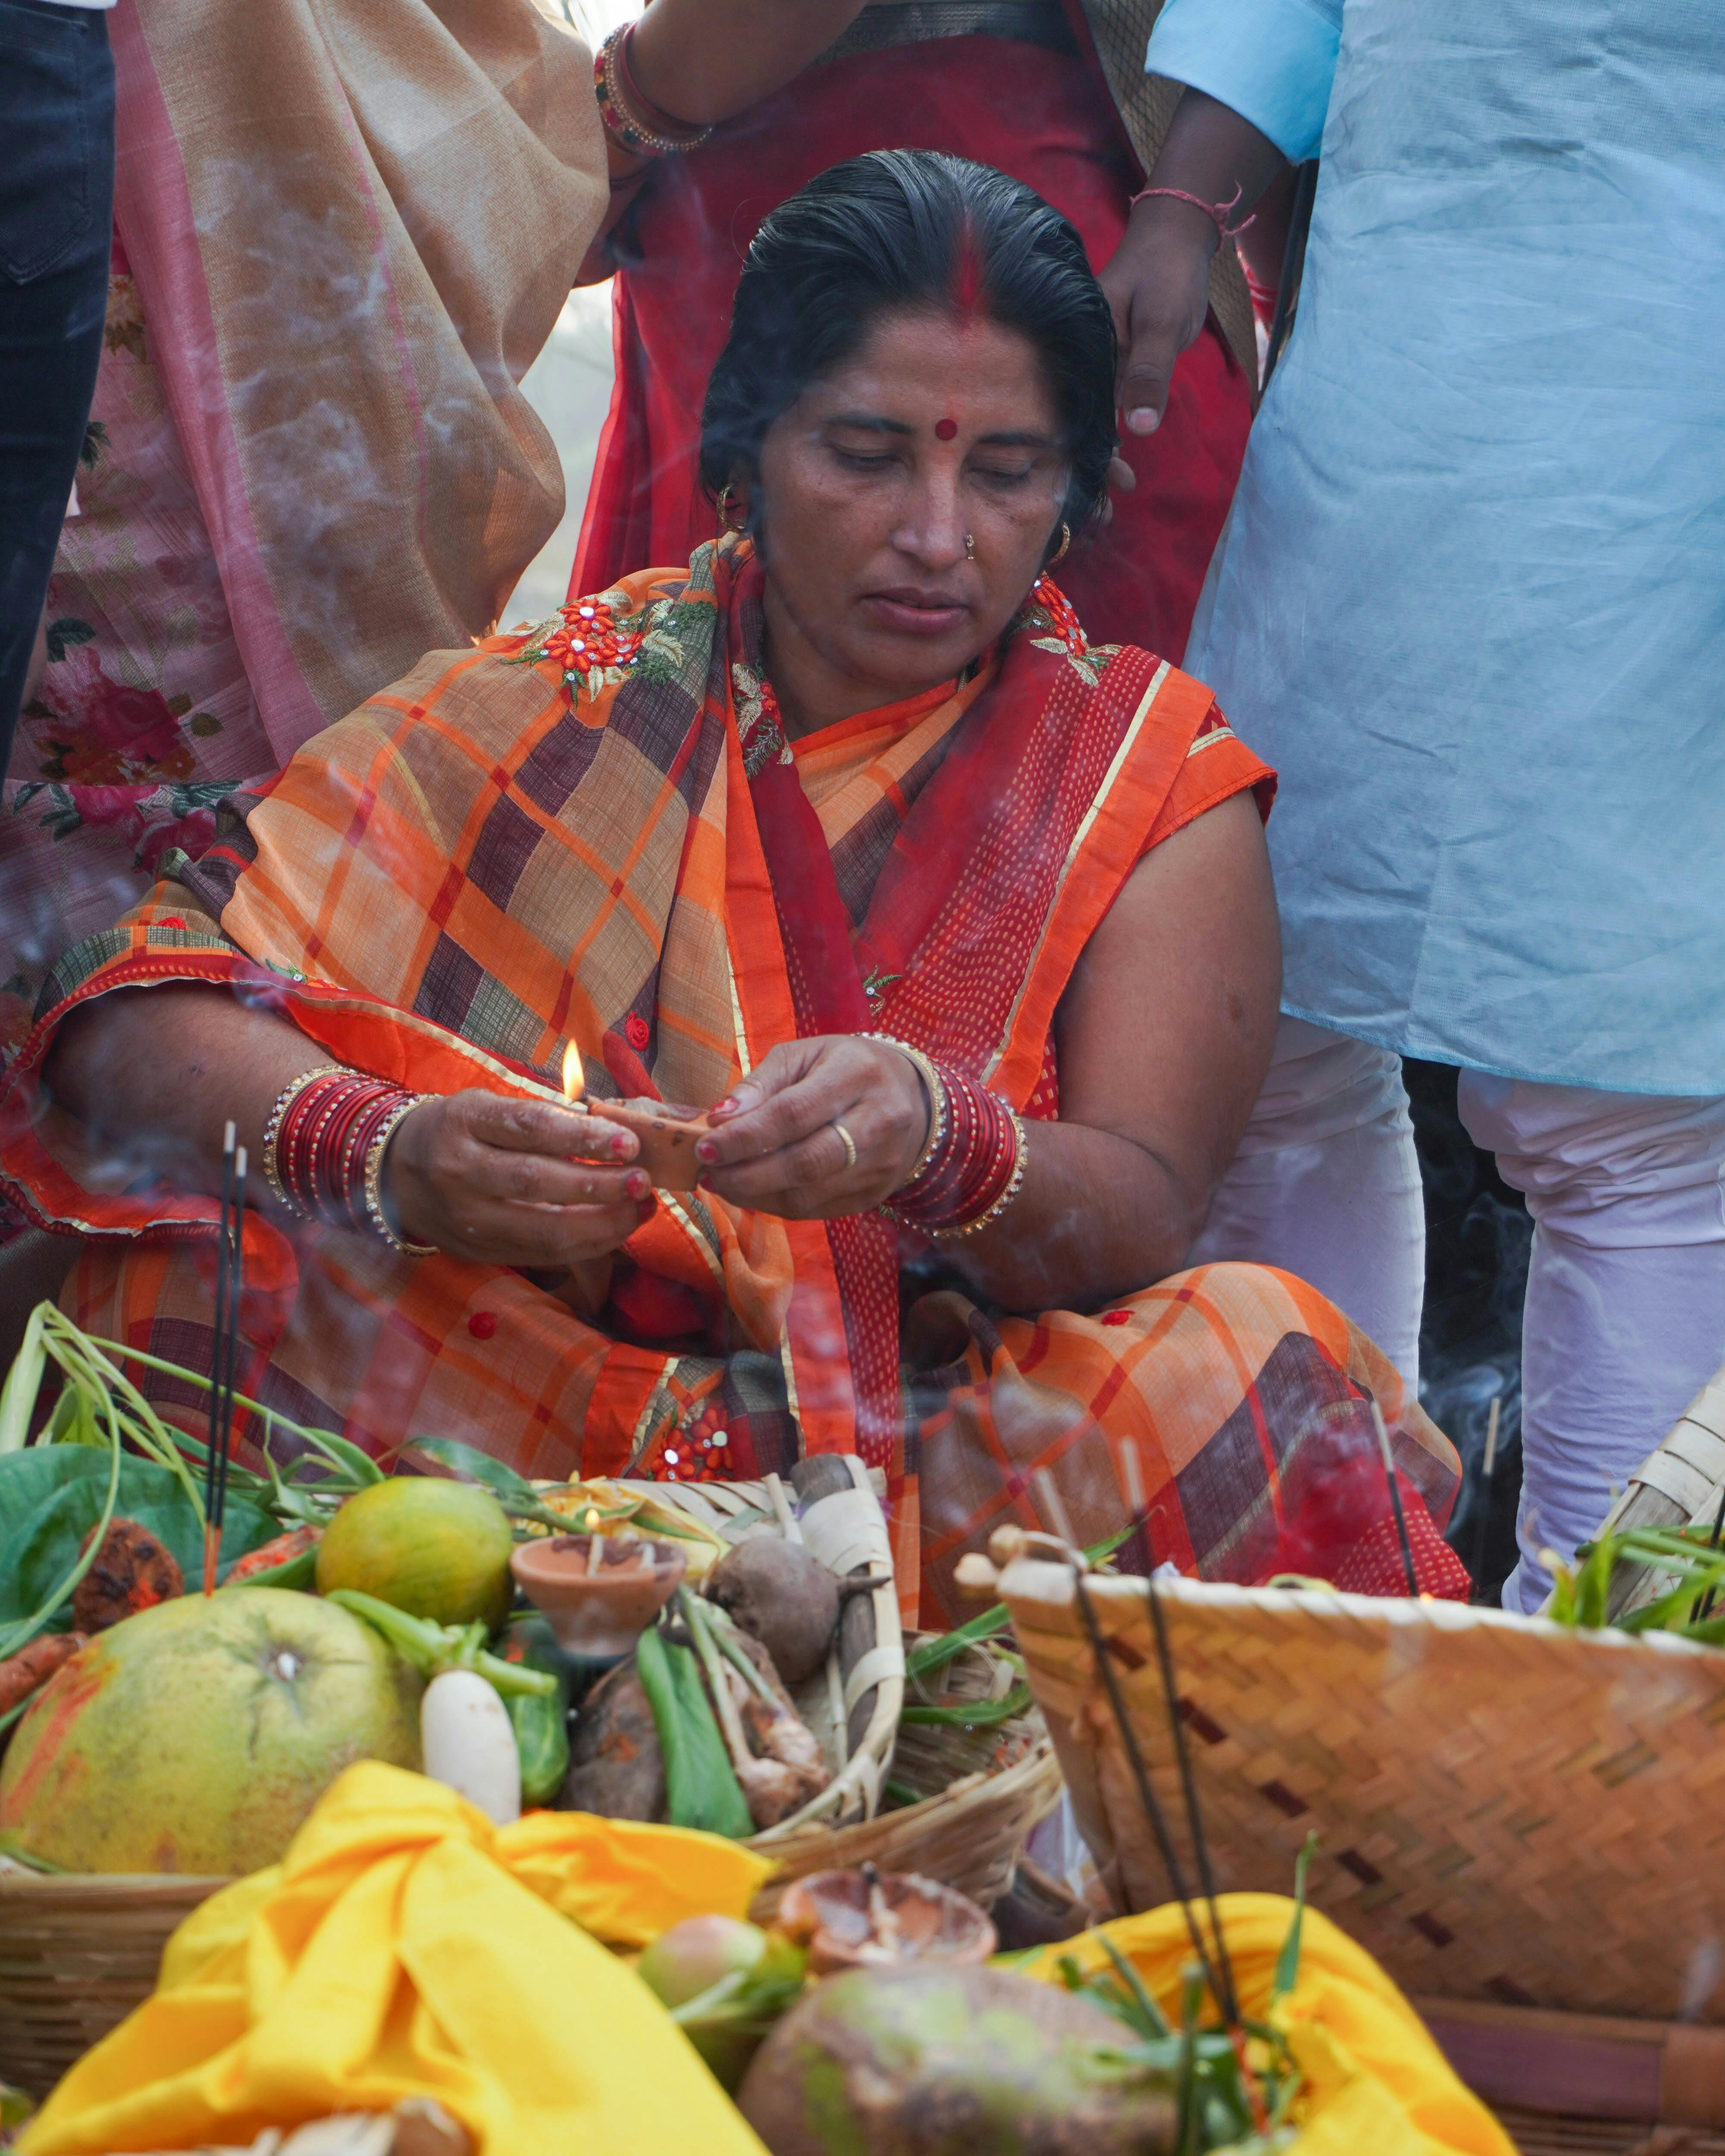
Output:
[[[1000,1591],[1121,1908],[1169,1882],[1065,1565]],[[1725,2020],[1725,1651],[1453,1602],[1158,1587],[1220,1889],[1289,1889],[1408,1992]],[[1192,1869],[1143,1580],[1089,1580]]]

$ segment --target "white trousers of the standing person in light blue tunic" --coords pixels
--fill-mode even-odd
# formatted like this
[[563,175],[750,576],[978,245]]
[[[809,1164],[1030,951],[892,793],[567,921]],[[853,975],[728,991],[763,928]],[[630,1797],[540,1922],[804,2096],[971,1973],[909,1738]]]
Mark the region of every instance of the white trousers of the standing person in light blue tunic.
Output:
[[[1725,1100],[1462,1072],[1475,1145],[1527,1197],[1522,1559],[1533,1611],[1634,1468],[1725,1363]],[[1197,1259],[1298,1272],[1414,1371],[1425,1233],[1397,1059],[1285,1018]]]

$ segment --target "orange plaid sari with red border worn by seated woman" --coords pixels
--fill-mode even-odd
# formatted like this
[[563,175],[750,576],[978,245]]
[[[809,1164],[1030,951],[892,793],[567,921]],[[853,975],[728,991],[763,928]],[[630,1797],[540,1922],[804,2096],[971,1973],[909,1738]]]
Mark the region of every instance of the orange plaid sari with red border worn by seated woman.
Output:
[[[1054,1007],[1132,867],[1244,787],[1268,806],[1272,774],[1205,688],[1087,645],[1052,586],[972,679],[791,752],[759,694],[759,584],[724,541],[429,655],[60,964],[0,1093],[0,1171],[95,1238],[67,1289],[80,1324],[209,1363],[213,1203],[104,1194],[37,1084],[60,1018],[114,987],[229,983],[414,1091],[554,1091],[574,1041],[593,1091],[712,1102],[774,1041],[873,1026],[1059,1110]],[[267,1406],[554,1477],[860,1451],[934,1619],[957,1554],[1035,1518],[1037,1466],[1078,1533],[1134,1498],[1141,1557],[1229,1578],[1352,1561],[1386,1520],[1380,1470],[1339,1496],[1367,1393],[1443,1550],[1421,1496],[1447,1511],[1453,1453],[1341,1313],[1257,1268],[1098,1317],[992,1319],[947,1291],[901,1322],[912,1253],[873,1214],[660,1194],[612,1261],[563,1281],[259,1216],[246,1233],[242,1388]]]

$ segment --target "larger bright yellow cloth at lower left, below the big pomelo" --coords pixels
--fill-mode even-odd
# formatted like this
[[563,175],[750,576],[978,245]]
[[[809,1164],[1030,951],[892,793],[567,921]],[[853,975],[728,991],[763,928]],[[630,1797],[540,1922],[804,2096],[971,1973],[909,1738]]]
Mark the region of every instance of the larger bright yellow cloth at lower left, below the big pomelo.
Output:
[[280,1865],[185,1919],[153,1996],[67,2074],[22,2156],[246,2143],[405,2096],[433,2096],[477,2156],[763,2156],[597,1940],[740,1917],[768,1869],[714,1835],[586,1813],[498,1830],[442,1783],[354,1766]]

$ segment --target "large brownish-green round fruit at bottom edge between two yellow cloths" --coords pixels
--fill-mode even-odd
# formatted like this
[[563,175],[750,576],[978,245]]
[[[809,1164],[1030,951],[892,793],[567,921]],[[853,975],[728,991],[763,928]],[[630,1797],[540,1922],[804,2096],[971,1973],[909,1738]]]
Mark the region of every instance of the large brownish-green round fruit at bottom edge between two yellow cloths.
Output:
[[856,1968],[778,2022],[737,2106],[772,2156],[1167,2156],[1167,2074],[1121,2024],[1003,1968]]

